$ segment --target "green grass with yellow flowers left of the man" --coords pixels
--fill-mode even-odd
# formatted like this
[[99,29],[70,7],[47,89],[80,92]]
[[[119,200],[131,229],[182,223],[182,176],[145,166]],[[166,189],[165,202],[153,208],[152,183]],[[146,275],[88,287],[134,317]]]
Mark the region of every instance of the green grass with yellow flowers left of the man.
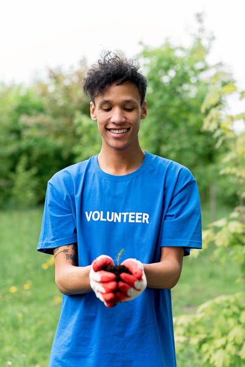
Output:
[[[42,210],[0,213],[0,366],[47,367],[60,294],[36,251]],[[56,296],[56,297],[55,297]]]

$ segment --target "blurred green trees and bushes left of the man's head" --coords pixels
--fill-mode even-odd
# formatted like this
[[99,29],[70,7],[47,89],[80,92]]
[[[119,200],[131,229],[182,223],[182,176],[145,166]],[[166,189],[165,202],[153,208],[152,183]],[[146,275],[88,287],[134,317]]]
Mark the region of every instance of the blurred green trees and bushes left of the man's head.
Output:
[[86,70],[83,60],[76,71],[50,70],[46,82],[0,86],[0,206],[11,195],[20,203],[23,193],[17,191],[25,189],[17,182],[20,170],[22,179],[26,174],[26,182],[27,177],[33,181],[26,190],[34,201],[22,201],[33,204],[43,202],[49,178],[74,163],[76,115],[88,113],[80,86]]

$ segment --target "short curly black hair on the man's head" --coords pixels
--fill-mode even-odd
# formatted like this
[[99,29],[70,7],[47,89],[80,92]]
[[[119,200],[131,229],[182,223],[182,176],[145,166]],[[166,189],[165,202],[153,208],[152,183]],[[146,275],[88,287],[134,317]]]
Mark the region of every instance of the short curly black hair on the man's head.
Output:
[[92,65],[83,79],[83,91],[95,103],[95,97],[112,84],[121,85],[126,81],[134,83],[139,90],[141,104],[147,90],[147,79],[139,72],[140,66],[133,59],[122,58],[116,53],[107,52],[98,64]]

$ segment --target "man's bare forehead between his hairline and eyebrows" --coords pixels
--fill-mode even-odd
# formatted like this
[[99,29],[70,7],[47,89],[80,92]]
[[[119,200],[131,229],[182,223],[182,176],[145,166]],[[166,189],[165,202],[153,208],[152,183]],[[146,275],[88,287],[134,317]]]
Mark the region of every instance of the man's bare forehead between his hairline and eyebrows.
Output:
[[141,97],[137,86],[127,81],[121,85],[112,84],[102,91],[102,94],[95,98],[95,101],[135,101],[140,103]]

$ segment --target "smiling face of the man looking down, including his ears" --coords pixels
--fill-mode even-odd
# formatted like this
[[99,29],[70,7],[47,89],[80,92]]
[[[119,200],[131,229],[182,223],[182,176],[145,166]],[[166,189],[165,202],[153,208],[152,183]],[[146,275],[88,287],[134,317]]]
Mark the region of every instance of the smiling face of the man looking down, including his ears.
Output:
[[90,115],[98,122],[102,147],[124,149],[138,147],[141,119],[147,115],[147,102],[140,104],[140,94],[135,84],[109,86],[101,96],[90,102]]

